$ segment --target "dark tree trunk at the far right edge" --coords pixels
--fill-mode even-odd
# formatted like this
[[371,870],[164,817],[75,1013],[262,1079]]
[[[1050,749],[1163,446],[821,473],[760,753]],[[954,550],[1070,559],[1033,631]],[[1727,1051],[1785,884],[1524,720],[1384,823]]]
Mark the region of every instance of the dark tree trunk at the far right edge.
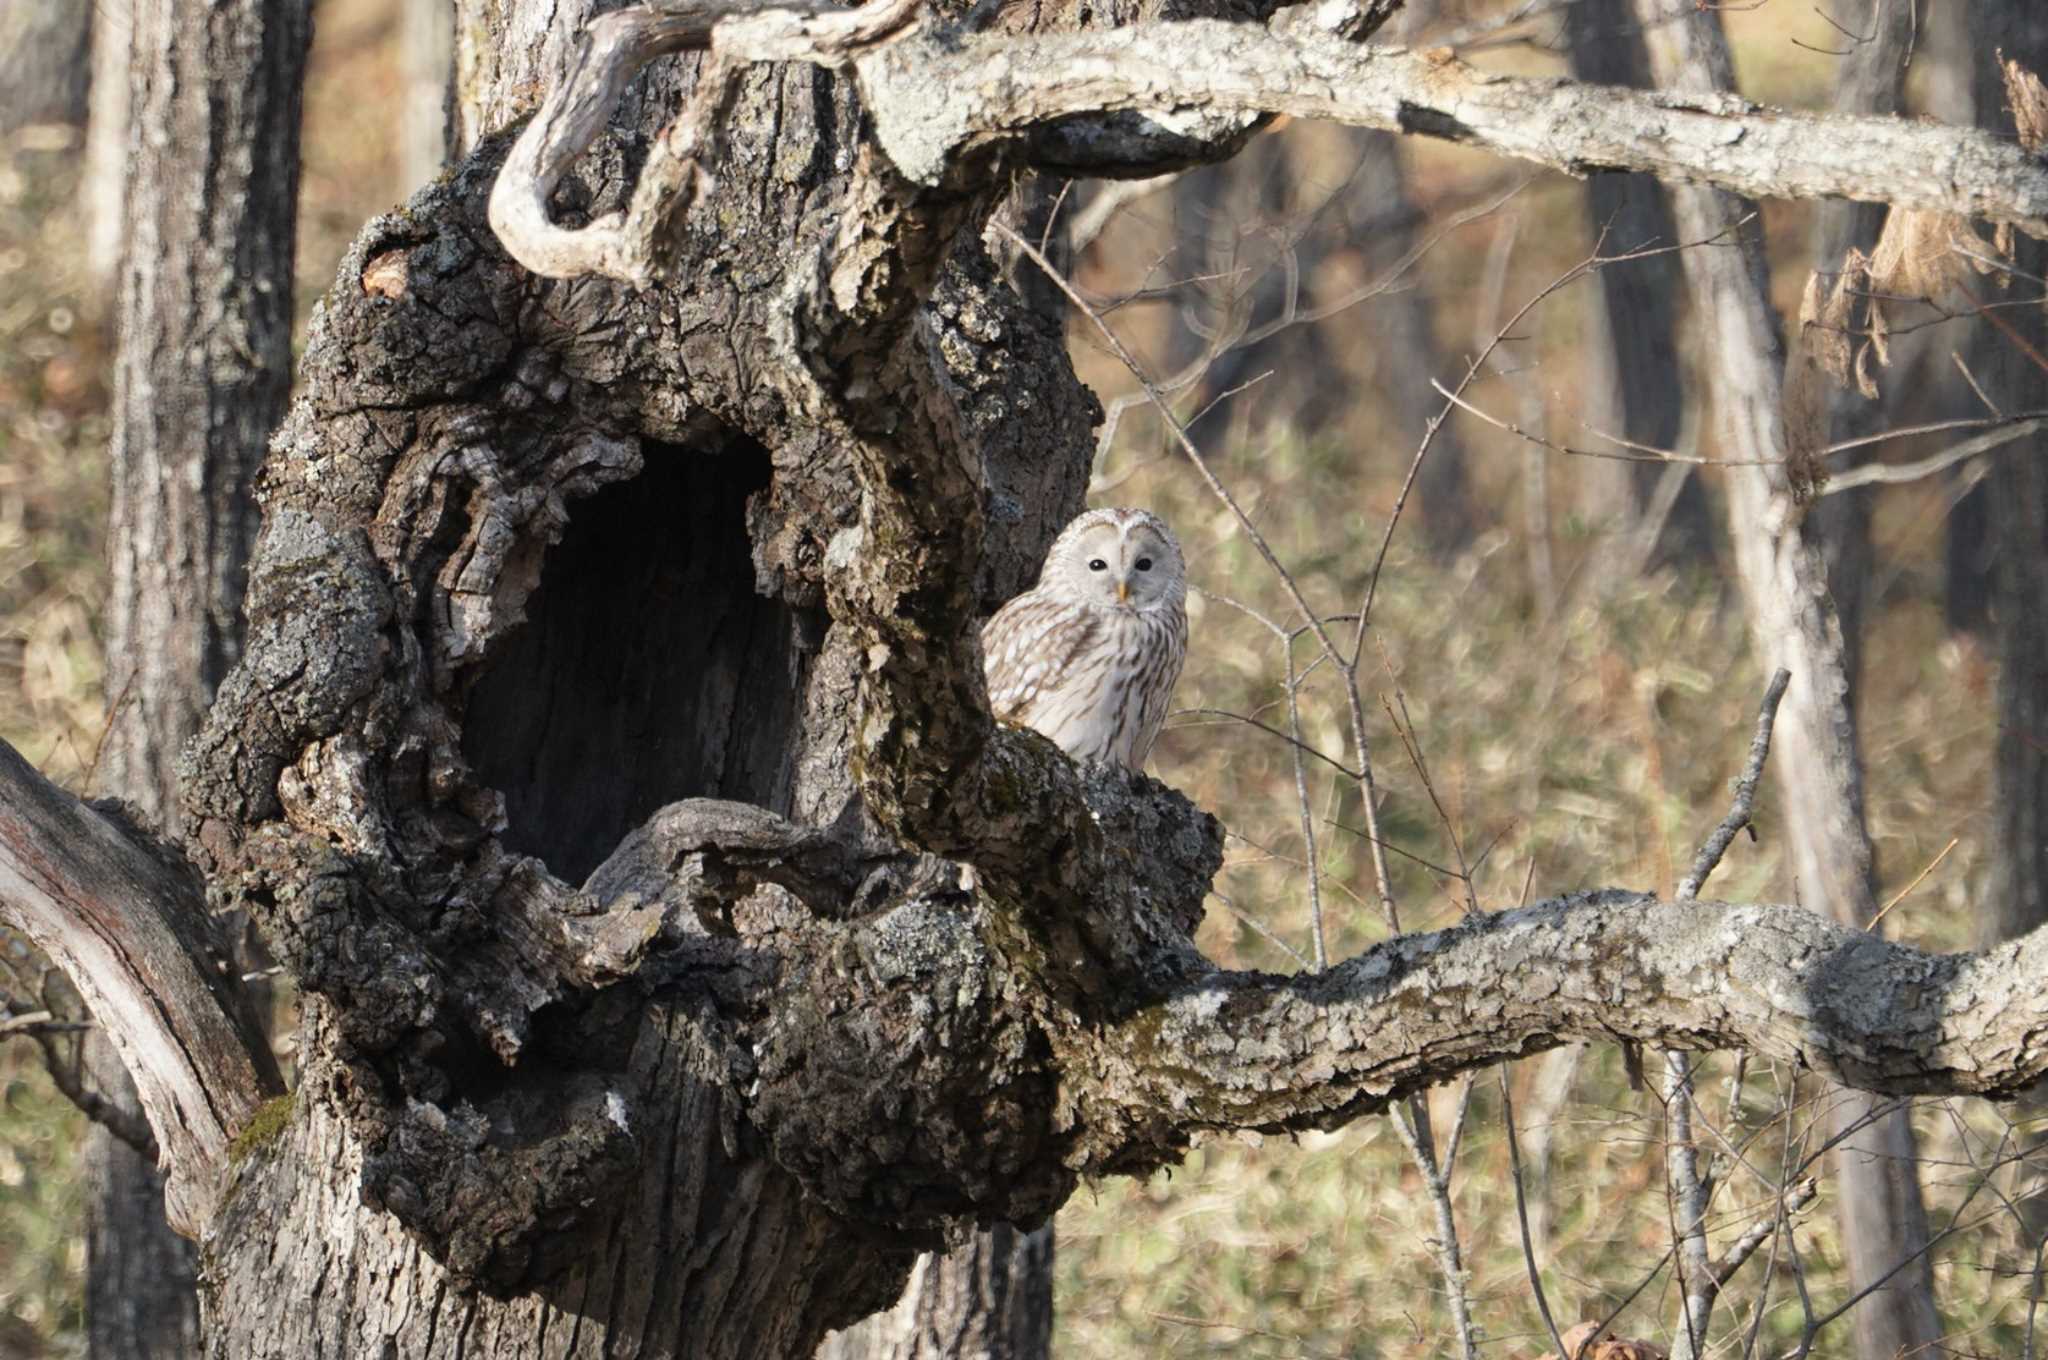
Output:
[[[2028,70],[2048,70],[2048,14],[2034,6],[1970,6],[1976,121],[2013,135],[1999,55]],[[2015,289],[2048,277],[2048,250],[2015,242],[2013,266],[2023,270]],[[2032,346],[2048,344],[2038,307],[2007,307],[2001,320]],[[1985,332],[1972,346],[1978,381],[1995,401],[2048,399],[2048,373],[2005,334]],[[1991,617],[1999,657],[1997,797],[1993,799],[1991,883],[1999,899],[1980,918],[1989,940],[2011,940],[2048,922],[2048,447],[1999,459],[1987,483],[1991,516]]]

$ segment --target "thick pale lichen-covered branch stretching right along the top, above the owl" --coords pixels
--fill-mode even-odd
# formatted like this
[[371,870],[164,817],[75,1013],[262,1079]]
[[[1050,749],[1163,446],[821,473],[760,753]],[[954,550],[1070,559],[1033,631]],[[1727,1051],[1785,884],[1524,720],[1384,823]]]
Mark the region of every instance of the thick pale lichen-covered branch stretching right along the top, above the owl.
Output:
[[[965,152],[1063,119],[1288,113],[1423,133],[1567,174],[1642,170],[1772,199],[1862,199],[2048,233],[2048,166],[1976,129],[1763,109],[1679,94],[1497,76],[1442,51],[1356,45],[1217,20],[1047,37],[918,33],[856,57],[897,168],[936,182]],[[1098,123],[1104,141],[1116,125]],[[1157,135],[1157,133],[1153,133]],[[1100,147],[1106,160],[1114,147]],[[1059,166],[1051,166],[1059,168]]]

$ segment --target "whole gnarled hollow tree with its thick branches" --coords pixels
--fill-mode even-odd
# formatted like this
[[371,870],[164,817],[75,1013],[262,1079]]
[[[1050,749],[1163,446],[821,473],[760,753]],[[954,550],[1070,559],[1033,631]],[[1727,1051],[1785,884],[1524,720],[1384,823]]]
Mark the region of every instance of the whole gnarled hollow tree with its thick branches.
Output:
[[182,766],[207,899],[303,987],[291,1096],[178,858],[0,778],[6,907],[137,1073],[213,1354],[809,1354],[1081,1176],[1575,1036],[2040,1075],[2042,936],[1604,891],[1219,971],[1214,817],[991,723],[973,619],[1094,416],[979,242],[1018,164],[1157,174],[1284,109],[2048,229],[2048,172],[1978,133],[1481,76],[1339,8],[461,16],[473,152],[342,262]]

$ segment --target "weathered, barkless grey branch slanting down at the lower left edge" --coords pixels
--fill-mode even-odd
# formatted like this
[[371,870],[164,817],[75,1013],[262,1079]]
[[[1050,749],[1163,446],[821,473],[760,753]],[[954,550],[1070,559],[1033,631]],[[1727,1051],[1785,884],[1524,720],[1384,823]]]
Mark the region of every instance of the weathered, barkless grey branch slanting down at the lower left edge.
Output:
[[0,913],[106,1026],[170,1167],[170,1221],[197,1235],[219,1196],[227,1141],[285,1090],[211,940],[199,881],[0,741]]

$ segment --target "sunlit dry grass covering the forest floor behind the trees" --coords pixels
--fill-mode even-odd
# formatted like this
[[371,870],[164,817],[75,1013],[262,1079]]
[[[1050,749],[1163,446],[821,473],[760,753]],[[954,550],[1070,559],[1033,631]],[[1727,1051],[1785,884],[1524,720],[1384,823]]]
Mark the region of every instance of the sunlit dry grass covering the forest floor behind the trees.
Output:
[[[1489,6],[1462,8],[1470,18]],[[1731,10],[1743,41],[1743,74],[1769,98],[1812,104],[1831,66],[1790,47],[1786,33],[1772,27],[1786,12],[1786,0],[1759,12]],[[307,94],[305,301],[326,287],[332,260],[354,227],[403,190],[391,170],[393,131],[383,119],[391,100],[365,96],[389,88],[395,70],[391,14],[393,0],[322,6]],[[1800,29],[1798,37],[1825,43],[1819,20],[1804,10],[1796,18],[1817,29]],[[1552,55],[1532,49],[1503,51],[1499,61],[1554,68]],[[1313,203],[1341,184],[1343,137],[1298,127],[1286,137],[1294,139],[1290,203]],[[1268,141],[1260,154],[1272,156],[1276,145]],[[6,621],[0,666],[8,678],[0,684],[0,735],[76,784],[90,762],[102,709],[96,619],[104,592],[106,354],[70,256],[78,236],[70,215],[76,156],[29,145],[0,156],[0,617]],[[1470,152],[1417,145],[1409,158],[1413,197],[1432,221],[1499,186],[1501,166]],[[1245,201],[1257,199],[1239,203]],[[1268,227],[1286,213],[1286,205],[1270,211],[1260,231],[1241,231],[1231,221],[1214,229],[1239,231],[1237,254],[1255,264],[1272,256]],[[1479,262],[1509,219],[1516,246],[1501,295],[1511,309],[1585,254],[1581,217],[1575,186],[1540,180],[1503,215],[1466,227],[1423,260],[1417,281],[1438,301],[1446,363],[1462,365],[1475,334],[1487,326],[1485,315],[1499,313],[1483,295]],[[1767,225],[1774,258],[1796,287],[1806,215],[1796,207],[1774,209]],[[1090,258],[1083,283],[1114,293],[1139,279],[1169,279],[1169,248],[1182,229],[1165,197],[1139,203]],[[1317,252],[1327,272],[1311,285],[1364,279],[1356,223],[1335,213],[1323,231],[1327,240]],[[1581,285],[1544,303],[1524,328],[1526,338],[1509,346],[1507,367],[1516,375],[1485,379],[1473,399],[1520,420],[1534,393],[1548,432],[1583,442],[1575,426],[1583,408],[1575,354],[1589,299]],[[1796,299],[1788,293],[1784,301]],[[1421,436],[1419,428],[1403,428],[1378,381],[1384,326],[1378,315],[1368,301],[1319,328],[1327,369],[1317,371],[1317,383],[1343,387],[1337,414],[1325,424],[1300,424],[1303,389],[1290,387],[1286,373],[1255,383],[1196,424],[1210,465],[1327,612],[1356,606],[1401,469]],[[1171,367],[1169,307],[1133,307],[1116,324],[1149,363]],[[1128,391],[1128,377],[1083,328],[1075,330],[1075,354],[1104,395]],[[1520,533],[1528,449],[1470,420],[1460,422],[1458,436],[1489,526],[1470,551],[1434,561],[1421,553],[1415,524],[1405,524],[1368,639],[1366,698],[1384,832],[1436,864],[1454,860],[1454,832],[1479,860],[1475,883],[1487,909],[1513,903],[1524,881],[1538,895],[1587,885],[1669,889],[1724,809],[1724,787],[1763,688],[1733,588],[1710,563],[1597,580],[1597,526],[1563,512],[1581,469],[1542,455],[1559,508],[1548,535],[1552,604],[1538,588],[1532,543]],[[1174,520],[1198,584],[1286,619],[1278,584],[1192,469],[1163,447],[1153,420],[1133,412],[1102,471],[1124,477],[1112,500],[1151,504]],[[1870,625],[1862,703],[1870,821],[1886,891],[1903,887],[1950,838],[1960,838],[1956,852],[1888,918],[1901,938],[1952,948],[1966,942],[1968,903],[1985,873],[1993,670],[1976,643],[1950,637],[1942,623],[1939,490],[1886,490],[1878,506],[1886,578]],[[1180,703],[1284,727],[1280,657],[1264,627],[1214,600],[1198,600],[1194,608]],[[1296,655],[1307,664],[1311,645],[1298,645]],[[1393,700],[1397,692],[1448,827],[1380,707],[1382,696]],[[1331,754],[1346,750],[1341,705],[1327,674],[1307,684],[1305,739]],[[1182,719],[1161,741],[1155,770],[1231,825],[1219,889],[1235,911],[1257,922],[1245,924],[1219,901],[1202,944],[1239,967],[1296,967],[1288,950],[1309,950],[1309,922],[1288,750],[1251,727]],[[1313,768],[1311,805],[1329,950],[1343,957],[1382,938],[1386,928],[1374,905],[1368,856],[1346,830],[1360,825],[1356,793]],[[1761,844],[1737,842],[1714,893],[1790,895],[1774,834],[1778,817],[1765,793]],[[1395,887],[1409,928],[1448,924],[1460,909],[1454,883],[1399,856]],[[1786,1157],[1796,1159],[1812,1145],[1812,1090],[1759,1067],[1749,1071],[1741,1106],[1731,1110],[1726,1081],[1729,1061],[1710,1061],[1702,1104],[1731,1139],[1755,1135],[1753,1165],[1778,1174]],[[1548,1297],[1561,1325],[1604,1315],[1651,1274],[1669,1241],[1655,1098],[1628,1090],[1612,1049],[1520,1063],[1513,1083]],[[1454,1100],[1456,1092],[1436,1092],[1440,1127],[1450,1122]],[[1972,1204],[1982,1204],[1985,1186],[2011,1182],[2009,1170],[1995,1176],[1978,1170],[2005,1133],[1995,1110],[1980,1102],[1937,1102],[1917,1118],[1927,1139],[1925,1176],[1937,1223],[1972,1192]],[[4,1354],[29,1346],[6,1329],[10,1319],[27,1327],[23,1335],[33,1335],[35,1346],[53,1354],[78,1350],[76,1137],[78,1120],[49,1094],[35,1061],[20,1045],[0,1047]],[[1731,1172],[1718,1206],[1731,1215],[1755,1208],[1759,1184]],[[1524,1278],[1491,1081],[1481,1081],[1473,1100],[1454,1194],[1485,1354],[1548,1350]],[[1839,1243],[1829,1210],[1823,1194],[1798,1231],[1808,1282],[1823,1307],[1839,1297]],[[1200,1147],[1171,1178],[1083,1192],[1061,1215],[1059,1229],[1059,1350],[1067,1356],[1450,1350],[1442,1280],[1425,1243],[1427,1210],[1415,1172],[1382,1120],[1298,1143]],[[1716,1221],[1716,1241],[1735,1229],[1733,1219]],[[1942,1303],[1958,1331],[1970,1333],[1964,1350],[2017,1354],[2025,1266],[2009,1217],[1944,1245]],[[1761,1262],[1751,1266],[1718,1313],[1722,1327],[1745,1321],[1743,1309],[1753,1305],[1763,1274]],[[1794,1294],[1784,1272],[1772,1282],[1772,1299],[1765,1335],[1796,1335],[1798,1309],[1786,1311]],[[1624,1313],[1622,1331],[1663,1335],[1671,1315],[1665,1274]],[[1845,1335],[1841,1327],[1825,1333],[1821,1354],[1847,1354]]]

